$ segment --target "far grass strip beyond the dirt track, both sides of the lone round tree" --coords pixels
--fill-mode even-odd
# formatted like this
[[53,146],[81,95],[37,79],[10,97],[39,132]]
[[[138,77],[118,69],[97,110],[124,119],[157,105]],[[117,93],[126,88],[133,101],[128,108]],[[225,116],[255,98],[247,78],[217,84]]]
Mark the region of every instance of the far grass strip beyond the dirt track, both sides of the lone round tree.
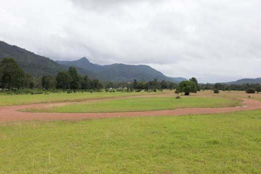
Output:
[[[0,106],[8,105],[18,105],[18,104],[32,104],[32,103],[50,103],[50,102],[63,102],[63,101],[82,101],[88,99],[101,99],[101,98],[111,98],[111,97],[121,97],[121,96],[132,96],[132,95],[151,95],[151,94],[162,94],[171,93],[174,95],[174,90],[164,90],[164,92],[76,92],[76,93],[48,93],[48,94],[12,94],[4,95],[0,94]],[[191,95],[214,95],[213,91],[201,90],[196,94],[191,93]],[[242,97],[261,100],[261,93],[247,94],[245,91],[220,91],[218,96],[227,97]]]

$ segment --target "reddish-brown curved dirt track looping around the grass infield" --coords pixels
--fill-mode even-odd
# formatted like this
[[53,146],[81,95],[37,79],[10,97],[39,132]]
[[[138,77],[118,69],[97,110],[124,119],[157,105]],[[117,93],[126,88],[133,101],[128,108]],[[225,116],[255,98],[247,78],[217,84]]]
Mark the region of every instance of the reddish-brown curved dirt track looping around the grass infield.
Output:
[[[138,112],[115,112],[115,113],[35,113],[35,112],[19,112],[18,109],[28,107],[65,105],[63,103],[44,103],[44,104],[27,104],[16,106],[0,107],[0,122],[19,121],[19,120],[80,120],[80,119],[97,119],[97,118],[115,118],[115,117],[131,117],[131,116],[177,116],[177,115],[197,115],[210,113],[224,113],[242,110],[261,109],[261,101],[254,99],[239,98],[244,100],[240,107],[222,107],[222,108],[180,108],[174,110],[159,111],[138,111]],[[105,99],[109,100],[109,99]],[[92,102],[97,100],[88,100]],[[71,102],[70,102],[71,103]],[[77,102],[74,102],[77,103]],[[80,103],[80,102],[79,102]]]

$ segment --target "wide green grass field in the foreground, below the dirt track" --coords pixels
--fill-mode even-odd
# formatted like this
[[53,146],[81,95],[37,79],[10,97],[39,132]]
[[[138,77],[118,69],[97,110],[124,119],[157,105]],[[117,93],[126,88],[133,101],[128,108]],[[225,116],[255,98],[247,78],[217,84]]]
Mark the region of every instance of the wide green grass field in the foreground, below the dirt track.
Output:
[[0,173],[260,174],[261,110],[0,123]]

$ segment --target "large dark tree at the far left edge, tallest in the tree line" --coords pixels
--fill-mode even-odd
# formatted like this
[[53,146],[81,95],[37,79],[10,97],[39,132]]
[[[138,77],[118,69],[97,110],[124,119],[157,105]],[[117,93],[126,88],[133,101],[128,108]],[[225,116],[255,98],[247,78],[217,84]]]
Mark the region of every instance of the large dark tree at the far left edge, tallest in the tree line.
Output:
[[24,72],[13,58],[4,58],[0,62],[1,87],[22,87]]

